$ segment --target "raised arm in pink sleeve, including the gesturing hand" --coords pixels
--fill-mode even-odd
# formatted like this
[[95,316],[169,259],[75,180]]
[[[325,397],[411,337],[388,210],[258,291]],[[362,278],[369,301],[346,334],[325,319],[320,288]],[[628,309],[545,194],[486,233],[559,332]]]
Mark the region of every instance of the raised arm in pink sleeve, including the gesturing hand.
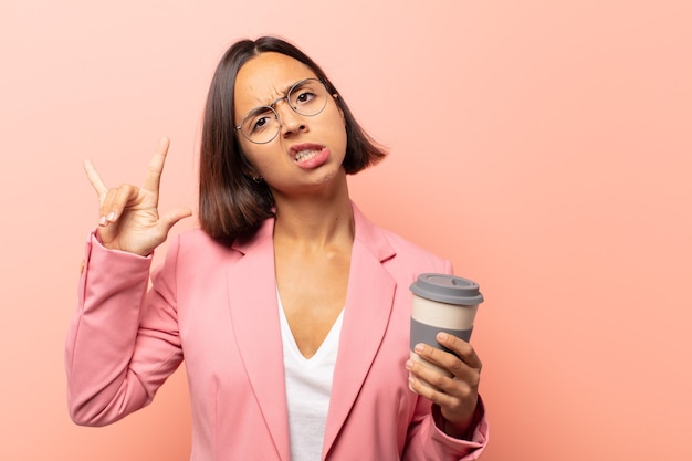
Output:
[[99,219],[66,344],[70,413],[77,423],[106,425],[147,405],[181,360],[174,291],[151,291],[148,301],[146,295],[151,252],[190,214],[178,208],[159,218],[168,145],[167,138],[159,143],[141,188],[108,189],[92,164],[84,165],[98,195]]

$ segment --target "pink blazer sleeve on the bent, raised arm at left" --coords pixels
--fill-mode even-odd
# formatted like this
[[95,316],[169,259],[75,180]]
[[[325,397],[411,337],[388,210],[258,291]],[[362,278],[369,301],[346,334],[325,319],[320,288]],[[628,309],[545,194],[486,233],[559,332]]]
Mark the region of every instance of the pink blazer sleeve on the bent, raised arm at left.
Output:
[[105,426],[151,402],[182,360],[175,308],[175,259],[150,290],[151,255],[105,249],[90,235],[78,307],[65,345],[67,404],[74,422]]

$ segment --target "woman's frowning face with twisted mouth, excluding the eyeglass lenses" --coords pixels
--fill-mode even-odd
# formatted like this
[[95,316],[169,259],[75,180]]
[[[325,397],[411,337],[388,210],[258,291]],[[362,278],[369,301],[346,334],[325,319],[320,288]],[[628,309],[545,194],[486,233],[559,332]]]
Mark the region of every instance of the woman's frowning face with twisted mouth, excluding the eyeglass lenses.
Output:
[[[252,176],[262,176],[276,196],[310,193],[344,177],[346,127],[335,95],[327,95],[325,108],[314,116],[294,112],[286,99],[298,81],[316,77],[303,63],[281,53],[262,53],[248,61],[235,77],[234,117],[238,124],[260,106],[279,114],[277,136],[254,144],[237,132],[240,148],[250,161]],[[277,101],[279,99],[279,101]]]

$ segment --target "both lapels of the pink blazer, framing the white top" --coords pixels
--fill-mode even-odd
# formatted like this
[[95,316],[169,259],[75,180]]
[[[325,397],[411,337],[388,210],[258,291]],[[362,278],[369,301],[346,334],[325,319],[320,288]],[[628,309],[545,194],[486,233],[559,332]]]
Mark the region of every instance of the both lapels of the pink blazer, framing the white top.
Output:
[[[365,381],[391,314],[396,282],[382,262],[396,253],[385,232],[354,205],[355,239],[339,352],[325,430],[325,453],[336,440]],[[229,269],[233,332],[245,371],[281,458],[289,461],[287,406],[276,303],[274,220],[233,243],[244,256]]]

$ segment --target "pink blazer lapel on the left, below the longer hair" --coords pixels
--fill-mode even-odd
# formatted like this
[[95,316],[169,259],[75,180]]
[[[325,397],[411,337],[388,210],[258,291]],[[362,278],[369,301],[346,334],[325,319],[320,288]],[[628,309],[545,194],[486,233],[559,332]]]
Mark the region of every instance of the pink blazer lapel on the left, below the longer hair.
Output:
[[238,349],[276,451],[289,461],[289,422],[283,348],[276,303],[273,219],[249,242],[233,248],[244,254],[228,272],[230,311]]

